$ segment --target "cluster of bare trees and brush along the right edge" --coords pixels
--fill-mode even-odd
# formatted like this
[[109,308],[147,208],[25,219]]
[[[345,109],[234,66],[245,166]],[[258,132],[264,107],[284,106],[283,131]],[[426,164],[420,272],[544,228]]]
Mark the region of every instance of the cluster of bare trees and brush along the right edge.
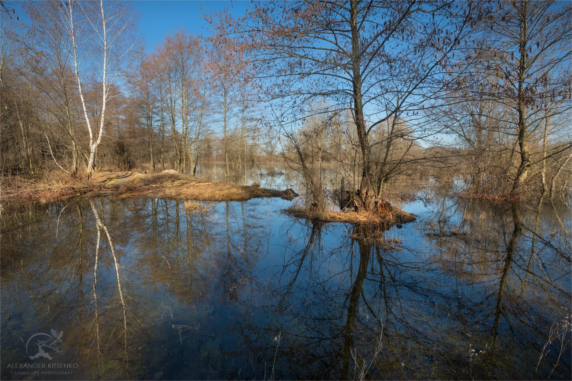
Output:
[[486,11],[456,63],[458,84],[431,118],[462,142],[475,191],[560,192],[570,186],[570,7],[499,2]]

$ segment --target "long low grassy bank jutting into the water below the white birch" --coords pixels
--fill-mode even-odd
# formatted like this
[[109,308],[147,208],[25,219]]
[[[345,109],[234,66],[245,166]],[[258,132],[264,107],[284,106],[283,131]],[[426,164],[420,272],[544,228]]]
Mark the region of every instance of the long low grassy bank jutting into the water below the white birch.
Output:
[[69,178],[51,184],[33,181],[4,182],[0,201],[47,203],[78,196],[136,195],[194,201],[246,201],[260,197],[281,197],[292,200],[297,196],[289,189],[276,190],[207,181],[174,170],[159,173],[102,171],[94,174],[90,180]]

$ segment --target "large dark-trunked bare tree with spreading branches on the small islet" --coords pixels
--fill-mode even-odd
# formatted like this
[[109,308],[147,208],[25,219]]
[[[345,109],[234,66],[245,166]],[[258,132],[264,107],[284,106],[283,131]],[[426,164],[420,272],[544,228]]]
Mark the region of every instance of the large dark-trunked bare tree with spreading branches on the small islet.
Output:
[[304,105],[319,98],[351,111],[360,189],[373,196],[383,182],[372,163],[372,129],[418,112],[425,97],[446,86],[440,70],[470,29],[471,15],[470,3],[268,2],[228,23],[256,52],[257,79],[266,100],[280,102],[282,123],[299,124],[308,117]]

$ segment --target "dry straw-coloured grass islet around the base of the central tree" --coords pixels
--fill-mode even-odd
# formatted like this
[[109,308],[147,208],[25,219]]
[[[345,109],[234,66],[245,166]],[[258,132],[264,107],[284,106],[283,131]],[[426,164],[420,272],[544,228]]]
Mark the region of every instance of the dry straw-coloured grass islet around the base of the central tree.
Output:
[[384,215],[371,212],[320,211],[318,209],[310,210],[300,207],[284,209],[284,212],[301,219],[350,224],[379,224],[387,226],[393,224],[406,224],[415,220],[415,215],[413,213],[408,213],[396,208],[394,208],[392,212]]

